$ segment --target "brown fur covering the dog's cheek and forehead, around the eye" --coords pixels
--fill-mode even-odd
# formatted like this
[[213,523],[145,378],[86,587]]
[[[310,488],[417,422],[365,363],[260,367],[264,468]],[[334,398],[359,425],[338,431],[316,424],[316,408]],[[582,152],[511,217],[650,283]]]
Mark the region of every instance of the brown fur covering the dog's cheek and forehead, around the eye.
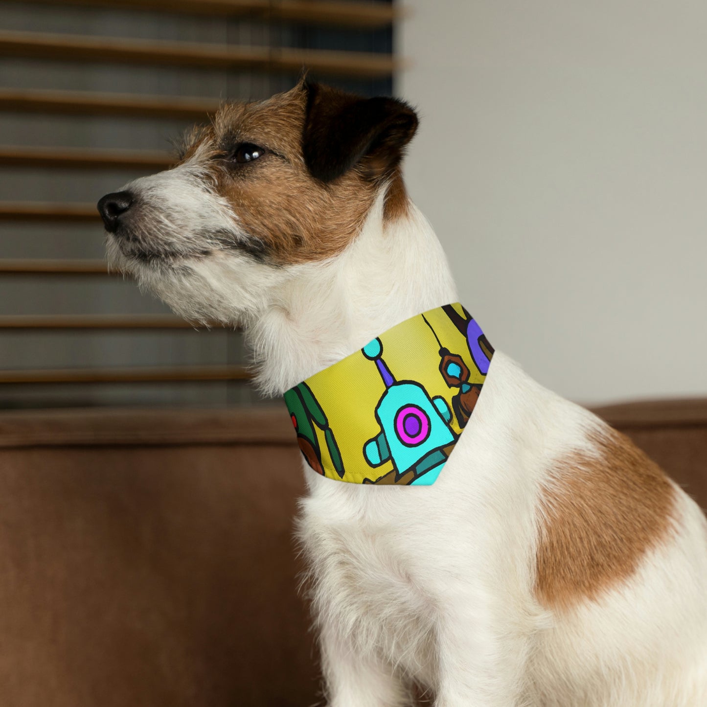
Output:
[[[363,164],[327,183],[310,174],[303,158],[307,100],[300,83],[269,100],[228,103],[185,148],[185,160],[203,165],[232,206],[238,226],[252,240],[252,254],[276,264],[338,255],[360,232],[380,185]],[[264,148],[264,155],[235,164],[229,156],[243,143]],[[407,194],[396,169],[385,217],[398,218],[406,209]]]

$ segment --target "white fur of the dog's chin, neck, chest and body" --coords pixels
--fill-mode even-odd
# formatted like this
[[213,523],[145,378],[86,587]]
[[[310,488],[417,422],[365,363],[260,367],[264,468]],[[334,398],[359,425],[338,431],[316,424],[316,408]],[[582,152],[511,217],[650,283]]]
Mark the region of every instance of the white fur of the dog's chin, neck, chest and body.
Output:
[[[177,270],[113,255],[182,314],[245,322],[259,384],[279,394],[456,301],[419,211],[384,224],[381,193],[345,252],[292,267],[234,252]],[[563,614],[534,595],[540,489],[602,425],[496,352],[433,486],[343,484],[305,467],[299,534],[332,707],[402,706],[413,681],[437,707],[707,704],[706,523],[679,489],[674,537],[629,582]]]

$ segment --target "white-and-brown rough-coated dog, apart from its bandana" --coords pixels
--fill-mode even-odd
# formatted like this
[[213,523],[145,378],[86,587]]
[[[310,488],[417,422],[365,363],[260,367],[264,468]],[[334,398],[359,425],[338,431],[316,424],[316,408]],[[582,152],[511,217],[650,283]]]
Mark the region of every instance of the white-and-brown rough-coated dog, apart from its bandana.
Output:
[[[243,326],[282,395],[457,299],[402,180],[417,124],[306,80],[226,103],[174,168],[99,201],[110,263],[192,322]],[[707,704],[701,510],[508,356],[433,485],[305,474],[330,706],[408,705],[415,686],[437,707]]]

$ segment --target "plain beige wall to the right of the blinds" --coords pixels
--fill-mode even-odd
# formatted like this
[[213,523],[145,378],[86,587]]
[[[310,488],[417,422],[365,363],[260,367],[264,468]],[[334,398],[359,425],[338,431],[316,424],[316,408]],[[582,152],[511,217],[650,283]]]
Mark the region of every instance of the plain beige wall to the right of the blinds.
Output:
[[707,4],[406,1],[408,185],[489,339],[580,402],[707,395]]

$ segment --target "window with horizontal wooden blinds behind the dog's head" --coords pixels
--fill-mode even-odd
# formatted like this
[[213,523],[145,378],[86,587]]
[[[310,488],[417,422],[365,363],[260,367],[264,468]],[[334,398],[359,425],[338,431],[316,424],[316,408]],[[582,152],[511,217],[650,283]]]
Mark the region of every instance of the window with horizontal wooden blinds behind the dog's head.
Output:
[[291,88],[303,65],[390,94],[392,18],[389,2],[4,3],[0,407],[257,403],[238,332],[192,329],[107,274],[95,202],[166,168],[221,98]]

